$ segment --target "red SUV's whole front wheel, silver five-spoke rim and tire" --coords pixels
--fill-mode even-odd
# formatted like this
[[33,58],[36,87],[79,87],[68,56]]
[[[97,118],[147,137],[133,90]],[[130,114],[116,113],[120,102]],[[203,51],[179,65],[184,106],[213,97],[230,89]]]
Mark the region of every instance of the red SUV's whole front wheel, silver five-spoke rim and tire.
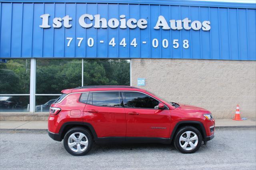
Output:
[[185,154],[196,152],[202,144],[202,135],[195,127],[182,127],[176,133],[174,146]]

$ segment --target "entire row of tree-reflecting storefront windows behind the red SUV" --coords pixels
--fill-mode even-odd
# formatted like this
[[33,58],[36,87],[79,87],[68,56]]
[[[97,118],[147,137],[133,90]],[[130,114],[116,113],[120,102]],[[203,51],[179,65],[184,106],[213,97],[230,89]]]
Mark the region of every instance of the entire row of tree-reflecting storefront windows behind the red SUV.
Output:
[[29,112],[30,106],[35,112],[48,112],[63,89],[82,85],[130,85],[127,59],[36,59],[35,103],[31,104],[31,59],[0,62],[0,112]]

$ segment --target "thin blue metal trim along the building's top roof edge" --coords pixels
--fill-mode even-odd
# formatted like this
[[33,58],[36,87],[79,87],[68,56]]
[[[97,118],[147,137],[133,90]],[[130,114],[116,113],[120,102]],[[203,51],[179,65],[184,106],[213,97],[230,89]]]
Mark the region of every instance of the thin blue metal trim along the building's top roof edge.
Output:
[[177,5],[177,6],[202,6],[219,8],[252,8],[254,3],[212,2],[194,0],[0,0],[0,2],[24,3],[109,3],[109,4],[152,4],[152,5]]

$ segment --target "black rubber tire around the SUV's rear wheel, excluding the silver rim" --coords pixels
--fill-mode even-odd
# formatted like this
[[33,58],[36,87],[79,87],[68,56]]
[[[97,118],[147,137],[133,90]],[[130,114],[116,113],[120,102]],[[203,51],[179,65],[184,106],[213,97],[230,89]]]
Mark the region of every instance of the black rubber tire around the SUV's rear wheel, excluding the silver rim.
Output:
[[[75,152],[75,151],[71,150],[71,148],[68,146],[68,138],[70,137],[70,135],[73,134],[73,133],[78,133],[78,132],[84,134],[86,136],[87,140],[88,140],[88,146],[82,152]],[[85,140],[86,138],[84,137],[83,140]],[[64,147],[65,147],[65,149],[68,153],[70,153],[74,156],[83,156],[83,155],[87,154],[92,148],[92,144],[93,144],[92,135],[85,128],[81,128],[81,127],[71,128],[70,130],[68,130],[68,132],[66,132],[66,134],[64,136],[63,144],[64,144]],[[83,146],[84,145],[81,145],[81,148]]]

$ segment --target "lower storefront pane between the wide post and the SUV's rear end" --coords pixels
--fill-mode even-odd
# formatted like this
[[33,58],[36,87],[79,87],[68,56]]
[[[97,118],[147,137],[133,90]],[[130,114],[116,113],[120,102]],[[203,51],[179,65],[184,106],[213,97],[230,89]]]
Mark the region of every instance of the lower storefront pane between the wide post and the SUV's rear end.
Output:
[[36,96],[35,112],[49,112],[50,106],[60,96]]

